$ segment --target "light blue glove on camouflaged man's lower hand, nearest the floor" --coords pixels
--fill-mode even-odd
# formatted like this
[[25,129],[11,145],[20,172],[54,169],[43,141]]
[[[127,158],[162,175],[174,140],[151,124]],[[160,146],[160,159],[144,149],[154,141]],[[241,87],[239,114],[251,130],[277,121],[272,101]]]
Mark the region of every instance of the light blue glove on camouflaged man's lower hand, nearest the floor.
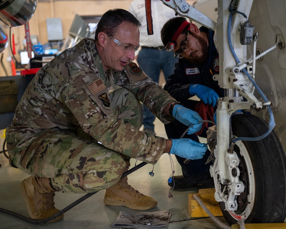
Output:
[[201,159],[208,149],[208,146],[203,146],[204,143],[199,143],[188,138],[171,140],[172,147],[170,153],[186,159]]

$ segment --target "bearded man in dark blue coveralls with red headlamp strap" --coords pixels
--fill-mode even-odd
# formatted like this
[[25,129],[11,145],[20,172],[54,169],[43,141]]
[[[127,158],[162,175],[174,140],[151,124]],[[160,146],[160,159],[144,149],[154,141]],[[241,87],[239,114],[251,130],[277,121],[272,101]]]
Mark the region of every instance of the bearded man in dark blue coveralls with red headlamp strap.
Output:
[[[198,101],[189,100],[197,96],[204,104],[216,109],[219,97],[224,96],[224,90],[213,80],[214,74],[219,74],[219,54],[214,44],[214,31],[202,26],[198,27],[186,21],[184,17],[174,17],[168,20],[161,30],[161,39],[168,51],[175,53],[178,62],[174,73],[168,77],[164,89],[184,107],[195,110]],[[211,126],[211,125],[209,125]],[[169,139],[178,139],[187,126],[174,120],[165,125]],[[207,128],[203,129],[200,137],[206,137]],[[195,134],[184,135],[199,142]],[[174,188],[183,189],[195,185],[213,184],[210,177],[210,163],[205,165],[210,152],[207,151],[202,159],[184,164],[184,158],[176,156],[182,167],[182,176],[174,176]],[[168,183],[173,187],[174,183]]]

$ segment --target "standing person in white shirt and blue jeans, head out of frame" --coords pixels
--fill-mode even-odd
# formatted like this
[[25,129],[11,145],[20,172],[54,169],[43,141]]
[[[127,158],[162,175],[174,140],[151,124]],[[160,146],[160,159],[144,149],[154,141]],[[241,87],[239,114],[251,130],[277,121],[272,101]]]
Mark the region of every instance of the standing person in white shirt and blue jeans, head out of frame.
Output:
[[[175,11],[163,4],[160,0],[151,1],[153,34],[148,35],[147,20],[145,10],[145,0],[134,0],[129,6],[128,11],[132,13],[142,24],[140,28],[141,50],[137,56],[137,62],[142,70],[159,83],[161,70],[165,79],[173,73],[174,65],[178,61],[172,52],[167,52],[162,40],[161,29],[170,18],[175,17]],[[154,132],[155,116],[144,106],[143,108],[143,132],[156,135]]]

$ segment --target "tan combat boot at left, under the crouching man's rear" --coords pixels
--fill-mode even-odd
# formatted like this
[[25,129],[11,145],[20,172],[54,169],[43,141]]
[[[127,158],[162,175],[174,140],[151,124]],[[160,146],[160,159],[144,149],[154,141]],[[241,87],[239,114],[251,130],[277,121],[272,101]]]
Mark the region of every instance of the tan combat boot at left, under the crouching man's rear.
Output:
[[[51,187],[49,178],[28,177],[21,182],[21,193],[32,219],[46,219],[59,212],[54,206],[55,190]],[[49,222],[55,222],[62,218],[63,214]]]

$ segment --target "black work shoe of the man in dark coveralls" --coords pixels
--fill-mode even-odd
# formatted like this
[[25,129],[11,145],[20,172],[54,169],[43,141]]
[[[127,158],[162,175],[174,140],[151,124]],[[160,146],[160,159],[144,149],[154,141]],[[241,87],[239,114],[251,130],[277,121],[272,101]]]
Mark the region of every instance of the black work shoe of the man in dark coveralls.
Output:
[[[175,186],[174,186],[175,182]],[[214,185],[214,179],[208,176],[204,176],[204,178],[196,178],[195,176],[184,177],[174,176],[171,183],[168,183],[169,186],[174,187],[174,189],[184,189],[191,188],[197,185]]]

